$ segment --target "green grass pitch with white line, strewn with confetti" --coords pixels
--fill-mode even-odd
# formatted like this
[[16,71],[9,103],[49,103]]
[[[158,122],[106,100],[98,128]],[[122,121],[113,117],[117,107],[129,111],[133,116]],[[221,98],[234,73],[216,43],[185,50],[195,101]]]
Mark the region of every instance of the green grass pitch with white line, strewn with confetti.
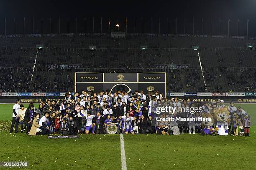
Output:
[[[255,125],[256,105],[240,105]],[[12,106],[0,105],[0,162],[25,161],[27,169],[35,170],[121,169],[119,135],[81,135],[79,139],[47,139],[47,136],[30,137],[24,133],[10,135]],[[254,170],[255,127],[250,130],[251,137],[124,135],[127,169]]]

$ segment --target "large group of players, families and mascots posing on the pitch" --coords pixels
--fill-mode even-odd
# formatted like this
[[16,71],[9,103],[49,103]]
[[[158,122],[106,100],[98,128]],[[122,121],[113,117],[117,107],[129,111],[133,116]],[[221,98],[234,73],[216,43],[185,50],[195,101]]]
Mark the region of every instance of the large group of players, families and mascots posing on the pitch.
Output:
[[[110,90],[89,95],[86,91],[80,94],[70,92],[64,100],[42,100],[38,108],[30,103],[25,108],[20,100],[13,105],[13,120],[10,133],[21,133],[26,130],[28,135],[45,134],[106,134],[108,127],[117,128],[116,133],[156,133],[163,135],[180,135],[181,133],[201,133],[202,135],[240,135],[249,136],[251,119],[245,110],[228,106],[224,101],[193,102],[189,99],[179,100],[178,97],[166,100],[163,93],[155,91],[144,94],[143,90],[133,93]],[[174,112],[157,113],[161,107],[176,107]],[[202,110],[190,112],[192,107]],[[186,110],[182,110],[186,108]],[[180,109],[180,110],[179,110]],[[173,117],[175,119],[163,119]],[[176,118],[179,119],[176,119]],[[210,117],[202,120],[200,117]],[[182,121],[189,118],[188,121]],[[238,128],[239,134],[238,134]]]

